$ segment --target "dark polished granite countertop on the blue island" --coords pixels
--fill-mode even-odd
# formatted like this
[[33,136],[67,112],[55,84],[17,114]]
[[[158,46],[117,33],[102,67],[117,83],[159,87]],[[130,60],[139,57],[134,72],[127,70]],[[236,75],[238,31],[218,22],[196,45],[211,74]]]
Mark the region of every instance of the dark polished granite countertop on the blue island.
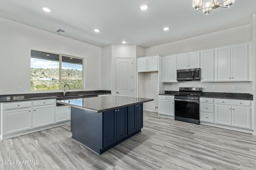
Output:
[[71,100],[57,100],[59,104],[64,104],[80,109],[90,110],[97,113],[120,109],[122,107],[134,106],[154,99],[132,98],[125,96],[101,96],[92,98],[79,98]]

